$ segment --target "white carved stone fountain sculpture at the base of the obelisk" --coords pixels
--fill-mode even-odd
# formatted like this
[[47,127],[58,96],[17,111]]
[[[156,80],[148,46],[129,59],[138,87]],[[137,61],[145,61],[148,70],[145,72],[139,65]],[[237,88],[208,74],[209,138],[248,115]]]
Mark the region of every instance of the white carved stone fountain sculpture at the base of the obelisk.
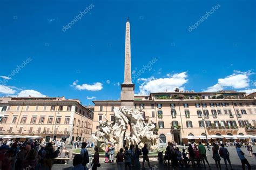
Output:
[[112,124],[108,120],[99,121],[99,131],[95,137],[97,146],[104,150],[105,144],[111,143],[119,151],[124,146],[147,144],[151,150],[157,148],[158,135],[154,134],[156,126],[154,121],[145,123],[142,107],[135,108],[114,108],[114,121]]

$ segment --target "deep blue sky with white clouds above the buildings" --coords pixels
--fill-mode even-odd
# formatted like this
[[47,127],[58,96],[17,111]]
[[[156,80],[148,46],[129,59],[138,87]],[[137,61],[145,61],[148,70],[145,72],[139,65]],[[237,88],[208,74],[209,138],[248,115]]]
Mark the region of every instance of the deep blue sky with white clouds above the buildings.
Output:
[[137,94],[254,92],[255,8],[255,1],[1,1],[0,96],[118,99],[127,16]]

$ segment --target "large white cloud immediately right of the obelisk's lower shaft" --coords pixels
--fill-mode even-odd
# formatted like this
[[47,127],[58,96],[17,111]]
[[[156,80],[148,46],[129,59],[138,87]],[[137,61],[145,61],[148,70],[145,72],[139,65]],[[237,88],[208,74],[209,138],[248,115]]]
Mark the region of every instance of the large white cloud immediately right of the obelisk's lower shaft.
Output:
[[139,93],[137,95],[147,95],[149,92],[165,92],[174,91],[176,87],[180,90],[184,90],[185,87],[183,85],[187,83],[188,79],[186,72],[181,72],[177,74],[173,74],[168,78],[139,78],[139,81],[144,81],[139,86]]

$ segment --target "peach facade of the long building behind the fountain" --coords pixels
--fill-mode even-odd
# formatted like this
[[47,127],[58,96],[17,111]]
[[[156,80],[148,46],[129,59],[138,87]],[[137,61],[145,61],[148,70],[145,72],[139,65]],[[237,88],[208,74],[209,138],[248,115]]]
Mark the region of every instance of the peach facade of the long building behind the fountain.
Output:
[[[157,127],[159,128],[158,134],[164,134],[167,141],[176,141],[179,142],[183,137],[186,137],[188,134],[193,134],[194,136],[199,135],[212,135],[220,133],[221,135],[226,135],[231,133],[233,135],[242,133],[255,135],[256,130],[247,130],[246,126],[256,126],[256,100],[251,99],[212,99],[210,96],[206,96],[205,99],[156,99],[156,98],[141,98],[134,100],[134,105],[138,109],[140,105],[144,105],[143,112],[145,112],[145,120],[153,120]],[[113,115],[111,112],[111,106],[120,107],[120,101],[94,101],[95,103],[95,117],[93,120],[92,134],[95,134],[97,129],[99,115],[104,115],[107,120],[110,120],[110,115]],[[111,104],[110,104],[111,103]],[[210,103],[214,103],[214,106],[211,106]],[[225,103],[225,105],[216,106],[216,103]],[[241,105],[239,105],[241,103]],[[158,104],[159,107],[158,107]],[[175,107],[171,107],[170,104],[175,104]],[[188,104],[188,107],[184,107],[184,104]],[[196,104],[200,104],[200,107],[197,107]],[[203,104],[206,104],[204,107]],[[100,111],[100,107],[103,106],[103,111]],[[176,117],[172,117],[171,110],[176,110]],[[202,117],[199,117],[197,111],[204,113],[205,110],[208,110],[208,117],[205,117],[205,121],[211,121],[209,126],[205,125],[206,122],[203,121]],[[212,110],[220,110],[221,114],[216,114],[216,117],[213,117]],[[227,110],[227,114],[225,113]],[[230,110],[233,116],[230,116]],[[239,111],[241,116],[238,116],[237,111]],[[245,110],[246,114],[242,114],[241,110]],[[106,112],[107,111],[107,112]],[[162,111],[162,117],[158,117],[158,111]],[[190,116],[186,117],[185,111],[190,112]],[[154,112],[154,114],[152,114]],[[240,125],[239,121],[247,121],[248,124]],[[172,125],[172,121],[178,121],[178,127]],[[187,121],[191,121],[192,127],[187,127]],[[199,121],[203,121],[206,128],[199,126]],[[219,121],[218,126],[216,127],[214,121]],[[221,126],[221,121],[225,121],[225,127]],[[228,124],[227,121],[235,121],[236,126]],[[164,127],[159,127],[159,122],[164,123]],[[190,124],[189,124],[190,125]],[[228,127],[230,126],[230,127]],[[205,132],[206,131],[206,132]]]

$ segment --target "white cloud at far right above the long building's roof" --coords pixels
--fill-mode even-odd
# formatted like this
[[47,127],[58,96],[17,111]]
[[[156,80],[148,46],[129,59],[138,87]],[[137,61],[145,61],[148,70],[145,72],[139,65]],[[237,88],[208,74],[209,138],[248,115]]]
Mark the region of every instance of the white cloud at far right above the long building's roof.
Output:
[[229,87],[232,89],[242,89],[250,86],[249,76],[253,74],[251,71],[241,72],[234,71],[233,74],[227,76],[225,78],[219,78],[218,83],[208,87],[205,91],[207,92],[216,92],[219,90],[225,89],[225,87]]

